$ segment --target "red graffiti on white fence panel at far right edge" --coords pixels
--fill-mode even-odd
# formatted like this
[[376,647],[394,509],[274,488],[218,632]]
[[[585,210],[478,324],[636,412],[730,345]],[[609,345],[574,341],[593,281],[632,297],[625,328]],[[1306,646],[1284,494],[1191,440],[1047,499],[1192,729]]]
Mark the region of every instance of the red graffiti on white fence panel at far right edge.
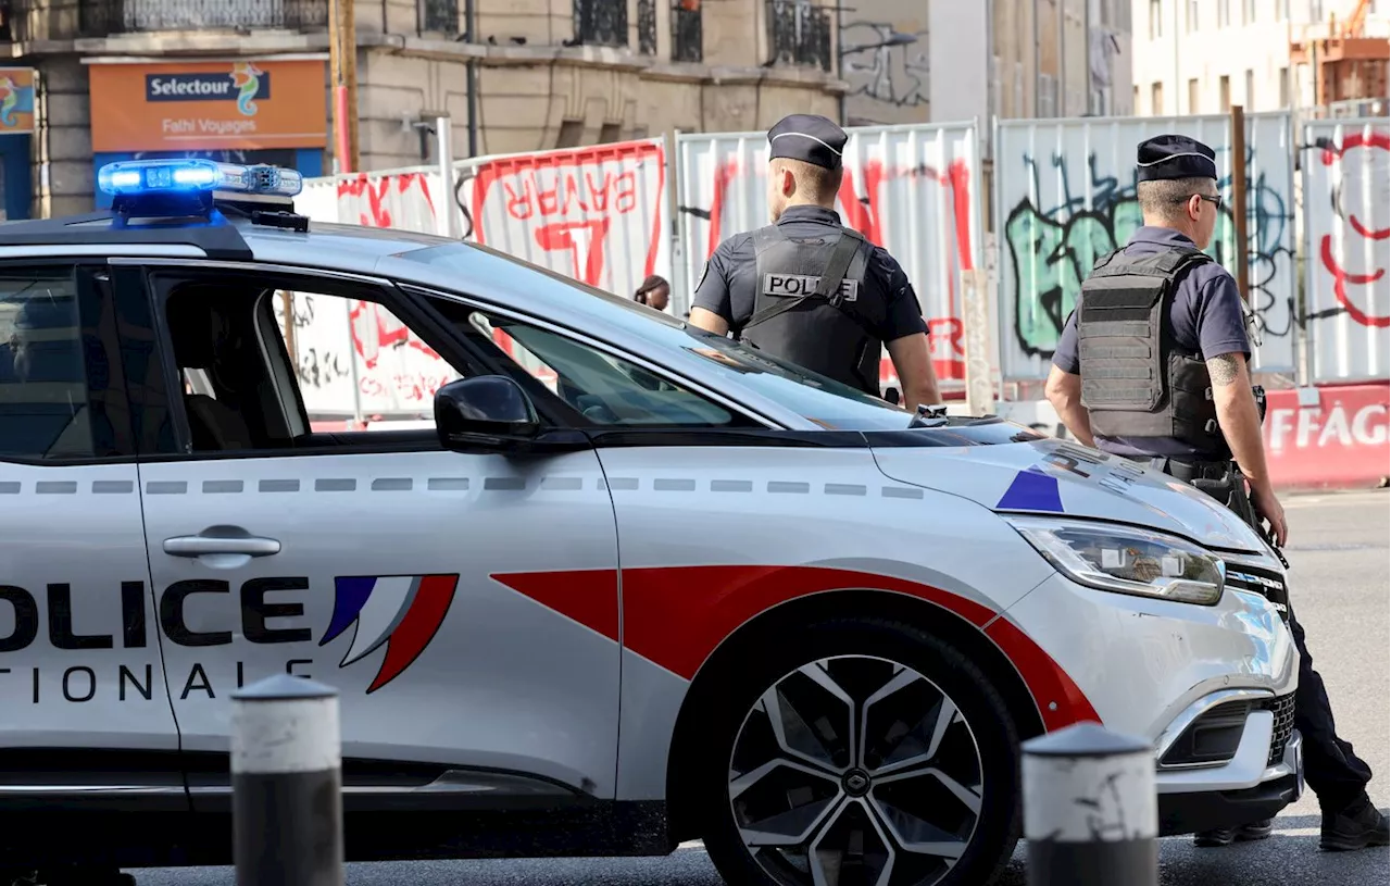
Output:
[[[1321,163],[1328,174],[1327,199],[1338,231],[1327,231],[1319,242],[1319,260],[1333,281],[1337,309],[1314,317],[1346,313],[1365,327],[1391,328],[1391,307],[1377,299],[1378,284],[1391,267],[1391,227],[1378,225],[1373,214],[1384,213],[1391,198],[1387,166],[1391,161],[1391,134],[1358,129],[1328,145]],[[1323,195],[1320,195],[1323,196]],[[1330,221],[1333,221],[1330,220]],[[1380,313],[1377,305],[1381,305]]]

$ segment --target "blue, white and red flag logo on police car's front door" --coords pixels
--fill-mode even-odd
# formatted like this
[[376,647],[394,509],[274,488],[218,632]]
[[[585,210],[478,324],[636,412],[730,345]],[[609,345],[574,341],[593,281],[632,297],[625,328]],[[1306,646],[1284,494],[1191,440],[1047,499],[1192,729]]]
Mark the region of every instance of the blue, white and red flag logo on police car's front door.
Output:
[[371,655],[383,643],[387,655],[367,694],[391,683],[434,640],[453,602],[459,576],[339,576],[334,579],[334,618],[319,645],[356,625],[339,668]]

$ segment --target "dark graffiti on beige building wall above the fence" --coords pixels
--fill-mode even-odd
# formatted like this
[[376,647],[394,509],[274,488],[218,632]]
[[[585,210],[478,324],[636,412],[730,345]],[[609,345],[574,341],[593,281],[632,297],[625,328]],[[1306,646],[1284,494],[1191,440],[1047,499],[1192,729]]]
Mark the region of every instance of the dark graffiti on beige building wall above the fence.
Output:
[[885,22],[850,22],[842,32],[850,96],[896,107],[928,103],[926,31],[901,33]]

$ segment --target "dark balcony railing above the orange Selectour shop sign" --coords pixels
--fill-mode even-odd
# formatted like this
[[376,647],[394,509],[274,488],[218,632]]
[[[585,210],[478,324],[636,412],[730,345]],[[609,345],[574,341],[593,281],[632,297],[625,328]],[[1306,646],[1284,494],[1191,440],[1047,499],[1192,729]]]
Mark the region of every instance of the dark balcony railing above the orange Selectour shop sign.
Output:
[[13,0],[13,4],[17,40],[328,26],[328,0]]

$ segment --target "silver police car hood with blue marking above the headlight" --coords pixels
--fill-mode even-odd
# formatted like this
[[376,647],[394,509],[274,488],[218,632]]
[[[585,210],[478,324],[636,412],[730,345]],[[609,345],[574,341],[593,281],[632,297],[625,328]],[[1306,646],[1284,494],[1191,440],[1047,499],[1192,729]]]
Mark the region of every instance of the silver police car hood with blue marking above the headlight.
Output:
[[992,510],[1116,520],[1210,548],[1269,552],[1235,513],[1187,483],[1128,459],[1011,427],[1022,433],[995,434],[989,442],[976,438],[968,445],[951,445],[956,435],[944,428],[897,433],[881,441],[868,437],[887,477],[960,495]]

